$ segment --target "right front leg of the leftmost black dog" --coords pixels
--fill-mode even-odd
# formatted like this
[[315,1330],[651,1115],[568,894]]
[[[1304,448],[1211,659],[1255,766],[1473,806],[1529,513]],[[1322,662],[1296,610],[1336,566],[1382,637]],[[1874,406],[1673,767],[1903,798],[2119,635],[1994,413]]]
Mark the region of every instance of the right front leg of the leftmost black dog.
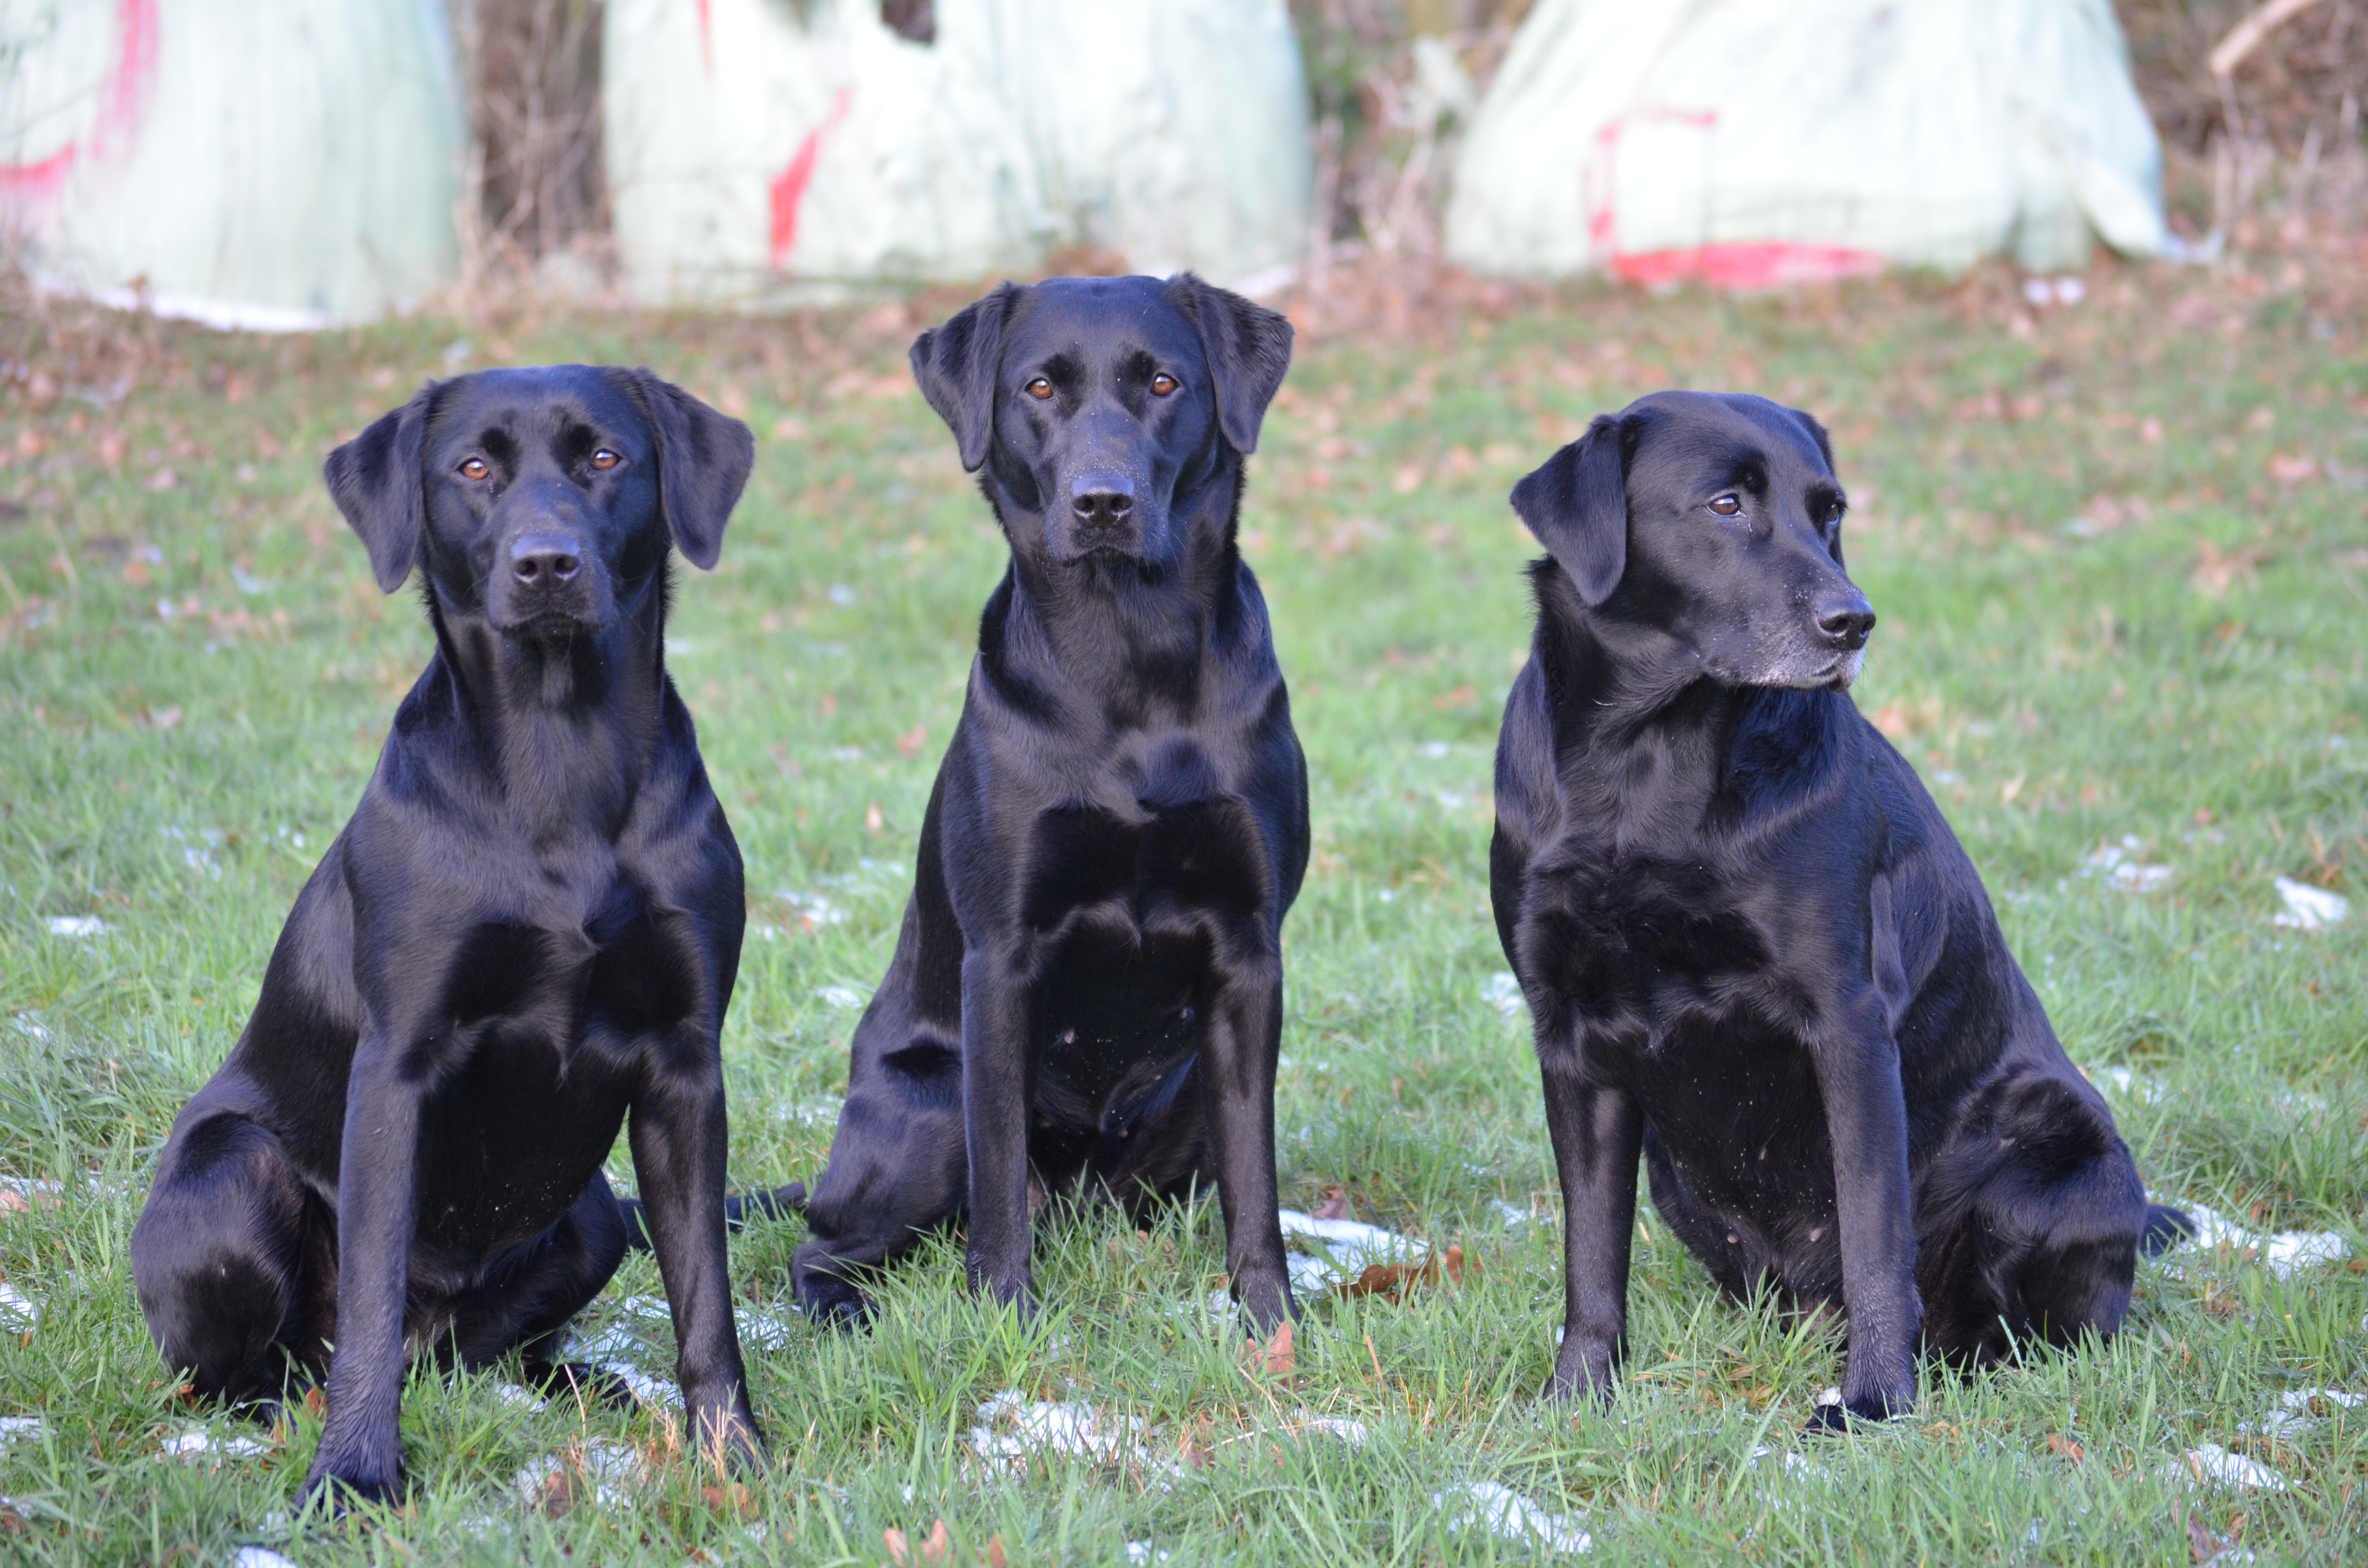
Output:
[[628,1137],[675,1319],[675,1376],[691,1440],[725,1469],[758,1459],[725,1253],[725,1080],[713,1030],[680,1045],[635,1097]]

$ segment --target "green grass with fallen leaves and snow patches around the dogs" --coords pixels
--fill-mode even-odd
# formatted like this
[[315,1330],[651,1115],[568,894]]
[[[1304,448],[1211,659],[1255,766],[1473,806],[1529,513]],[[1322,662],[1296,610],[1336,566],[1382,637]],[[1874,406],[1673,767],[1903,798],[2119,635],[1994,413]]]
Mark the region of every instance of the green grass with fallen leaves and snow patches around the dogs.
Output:
[[[0,1412],[45,1416],[0,1454],[0,1556],[879,1563],[883,1530],[919,1540],[935,1518],[954,1563],[990,1537],[1011,1563],[1122,1563],[1127,1542],[1177,1566],[1544,1556],[1449,1530],[1433,1495],[1468,1480],[1582,1521],[1603,1563],[2186,1563],[2186,1523],[2259,1561],[2368,1556],[2368,1407],[2242,1431],[2285,1390],[2368,1390],[2368,1277],[2342,1265],[2148,1267],[2115,1343],[1928,1371],[1916,1419],[1802,1447],[1797,1471],[1781,1454],[1838,1345],[1719,1303],[1648,1215],[1617,1412],[1534,1397],[1561,1241],[1525,1030],[1482,997],[1504,969],[1489,751],[1527,644],[1530,545],[1504,493],[1653,386],[1767,391],[1835,429],[1852,571],[1883,613],[1859,701],[1932,782],[2072,1056],[2153,1085],[2115,1108],[2155,1191],[2368,1253],[2359,322],[2306,289],[2169,270],[2100,270],[2089,303],[2036,322],[2010,277],[1982,275],[1759,301],[1466,296],[1423,317],[1430,341],[1302,346],[1243,516],[1317,822],[1286,926],[1281,1182],[1302,1208],[1343,1184],[1362,1217],[1461,1241],[1461,1289],[1317,1303],[1281,1386],[1196,1307],[1222,1270],[1208,1208],[1141,1236],[1099,1210],[1049,1222],[1030,1334],[976,1310],[940,1244],[893,1277],[876,1331],[791,1324],[751,1355],[772,1438],[755,1523],[703,1499],[689,1464],[630,1509],[523,1511],[509,1478],[530,1459],[585,1435],[663,1447],[665,1426],[514,1409],[497,1376],[414,1383],[400,1518],[289,1535],[313,1419],[260,1459],[161,1457],[192,1426],[244,1428],[178,1405],[154,1360],[126,1267],[137,1194],[429,647],[320,493],[322,450],[448,365],[632,360],[746,405],[758,474],[722,568],[684,573],[673,670],[748,860],[734,1180],[812,1177],[855,1018],[822,992],[886,964],[1002,561],[900,372],[952,303],[573,317],[511,341],[431,320],[258,341],[0,315],[0,1168],[64,1184],[0,1213],[0,1277],[40,1303],[0,1338]],[[471,343],[448,355],[455,339]],[[2081,509],[2119,526],[2074,531]],[[2081,874],[2124,836],[2171,867],[2167,888]],[[2273,926],[2278,874],[2349,891],[2351,921]],[[52,936],[50,917],[107,933]],[[1499,1203],[1534,1217],[1508,1227]],[[786,1300],[796,1241],[734,1244],[748,1307]],[[628,1265],[592,1326],[649,1293]],[[670,1371],[651,1329],[644,1364]],[[1137,1416],[1156,1457],[1205,1461],[995,1478],[969,1428],[1002,1388]],[[2290,1487],[2167,1478],[2198,1442]],[[1755,1461],[1759,1445],[1776,1452]]]

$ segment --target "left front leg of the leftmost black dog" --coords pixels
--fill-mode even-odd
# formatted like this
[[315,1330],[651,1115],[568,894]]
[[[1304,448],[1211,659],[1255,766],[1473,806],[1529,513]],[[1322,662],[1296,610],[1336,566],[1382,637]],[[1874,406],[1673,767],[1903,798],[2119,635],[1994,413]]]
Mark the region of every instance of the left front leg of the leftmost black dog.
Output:
[[346,1078],[336,1165],[336,1352],[329,1419],[303,1497],[393,1502],[403,1485],[403,1310],[419,1199],[419,1099],[426,1085],[388,1030],[365,1030]]

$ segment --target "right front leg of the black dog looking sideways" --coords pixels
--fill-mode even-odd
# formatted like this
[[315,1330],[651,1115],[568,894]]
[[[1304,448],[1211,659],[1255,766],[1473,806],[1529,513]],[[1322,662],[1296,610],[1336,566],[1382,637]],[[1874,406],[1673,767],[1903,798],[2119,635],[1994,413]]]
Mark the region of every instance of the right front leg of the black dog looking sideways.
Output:
[[[1849,1315],[1842,1409],[1880,1421],[1916,1407],[1923,1300],[1916,1296],[1909,1108],[1899,1087],[1899,1047],[1880,1004],[1857,1009],[1849,1023],[1857,1028],[1819,1049],[1814,1061],[1833,1144],[1842,1310]],[[1838,1419],[1819,1416],[1821,1424]]]

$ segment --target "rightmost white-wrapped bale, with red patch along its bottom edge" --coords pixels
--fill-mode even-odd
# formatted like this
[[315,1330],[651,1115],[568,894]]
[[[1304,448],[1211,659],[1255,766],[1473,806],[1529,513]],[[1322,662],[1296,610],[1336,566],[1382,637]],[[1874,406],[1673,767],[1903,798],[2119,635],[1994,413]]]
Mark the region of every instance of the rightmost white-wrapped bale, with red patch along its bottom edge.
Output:
[[1738,287],[2093,237],[2169,246],[2110,0],[1539,0],[1447,208],[1471,268]]

